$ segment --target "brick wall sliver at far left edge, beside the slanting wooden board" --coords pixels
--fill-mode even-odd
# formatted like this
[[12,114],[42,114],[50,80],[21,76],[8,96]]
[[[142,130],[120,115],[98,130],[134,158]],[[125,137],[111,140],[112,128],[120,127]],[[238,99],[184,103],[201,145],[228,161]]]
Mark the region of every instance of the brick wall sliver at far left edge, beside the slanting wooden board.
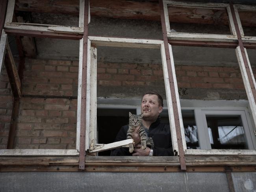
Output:
[[6,149],[11,112],[13,109],[13,96],[6,70],[0,74],[0,149]]

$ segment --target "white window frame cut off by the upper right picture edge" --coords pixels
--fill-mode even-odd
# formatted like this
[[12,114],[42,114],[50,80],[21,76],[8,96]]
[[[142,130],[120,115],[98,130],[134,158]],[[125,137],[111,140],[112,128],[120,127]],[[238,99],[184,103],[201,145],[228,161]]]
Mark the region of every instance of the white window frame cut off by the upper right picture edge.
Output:
[[234,9],[235,9],[235,14],[236,14],[236,18],[237,18],[237,24],[238,24],[243,42],[256,43],[256,36],[245,36],[245,34],[243,32],[243,26],[241,24],[240,16],[239,16],[239,11],[238,11],[238,9],[241,9],[243,11],[254,11],[256,14],[256,6],[247,6],[247,5],[236,4],[236,5],[234,5]]

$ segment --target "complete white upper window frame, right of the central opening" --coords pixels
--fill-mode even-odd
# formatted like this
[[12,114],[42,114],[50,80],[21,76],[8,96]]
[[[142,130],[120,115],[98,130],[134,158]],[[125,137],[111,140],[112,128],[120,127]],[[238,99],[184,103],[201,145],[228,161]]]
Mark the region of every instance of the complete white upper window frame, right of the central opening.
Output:
[[[228,21],[229,21],[230,31],[232,35],[171,32],[169,14],[168,14],[168,8],[167,8],[168,5],[179,6],[179,7],[197,7],[197,8],[206,8],[206,9],[226,9],[228,13]],[[186,3],[186,2],[179,2],[179,1],[173,1],[173,0],[163,0],[163,9],[164,9],[165,25],[166,25],[168,39],[188,40],[188,41],[219,41],[219,42],[220,41],[223,41],[223,42],[237,41],[237,34],[236,34],[229,4]]]

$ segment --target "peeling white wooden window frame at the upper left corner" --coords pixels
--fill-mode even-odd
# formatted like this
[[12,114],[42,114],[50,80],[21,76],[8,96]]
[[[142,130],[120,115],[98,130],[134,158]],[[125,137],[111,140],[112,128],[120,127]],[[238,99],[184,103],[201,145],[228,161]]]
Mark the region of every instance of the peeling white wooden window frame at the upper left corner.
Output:
[[[59,25],[50,25],[50,24],[12,22],[14,7],[15,7],[15,0],[8,0],[7,11],[6,11],[6,20],[5,20],[4,28],[5,29],[30,30],[30,31],[51,31],[51,32],[83,34],[84,4],[85,4],[84,0],[80,0],[80,4],[79,4],[79,24],[78,24],[77,27],[72,27],[72,26],[59,26]],[[89,10],[89,13],[90,13],[90,10]],[[90,22],[90,14],[89,14],[89,21],[88,22]]]

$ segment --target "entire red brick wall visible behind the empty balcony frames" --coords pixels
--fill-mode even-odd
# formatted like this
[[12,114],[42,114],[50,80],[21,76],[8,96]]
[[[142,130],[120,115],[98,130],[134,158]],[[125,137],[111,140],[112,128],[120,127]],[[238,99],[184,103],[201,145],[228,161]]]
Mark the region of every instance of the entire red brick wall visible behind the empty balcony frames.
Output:
[[[176,68],[179,88],[244,89],[238,67],[181,66]],[[165,93],[162,66],[158,64],[98,62],[98,92],[112,87],[123,96],[133,90],[159,89]],[[0,76],[0,148],[6,148],[12,96],[6,72]],[[25,95],[77,96],[78,61],[27,59]],[[109,88],[110,87],[110,88]],[[98,93],[98,96],[102,96]],[[77,100],[23,97],[20,100],[15,148],[74,149]]]

